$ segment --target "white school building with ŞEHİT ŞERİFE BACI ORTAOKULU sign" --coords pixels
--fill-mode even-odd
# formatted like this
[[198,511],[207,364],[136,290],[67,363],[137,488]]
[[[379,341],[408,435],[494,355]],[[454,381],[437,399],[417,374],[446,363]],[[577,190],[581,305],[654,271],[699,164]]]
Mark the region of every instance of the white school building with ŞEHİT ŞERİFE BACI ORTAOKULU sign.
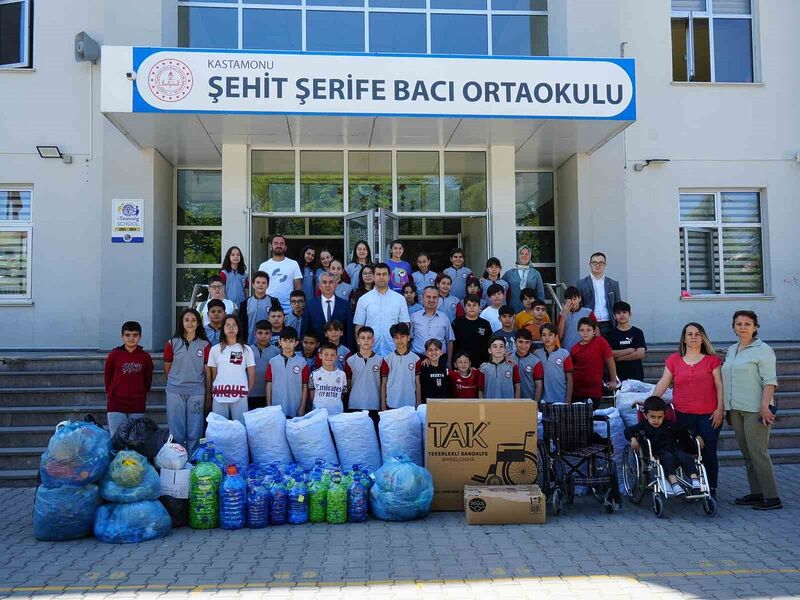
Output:
[[[230,245],[608,257],[800,339],[800,2],[0,0],[0,349],[160,349]],[[348,256],[345,256],[348,258]]]

